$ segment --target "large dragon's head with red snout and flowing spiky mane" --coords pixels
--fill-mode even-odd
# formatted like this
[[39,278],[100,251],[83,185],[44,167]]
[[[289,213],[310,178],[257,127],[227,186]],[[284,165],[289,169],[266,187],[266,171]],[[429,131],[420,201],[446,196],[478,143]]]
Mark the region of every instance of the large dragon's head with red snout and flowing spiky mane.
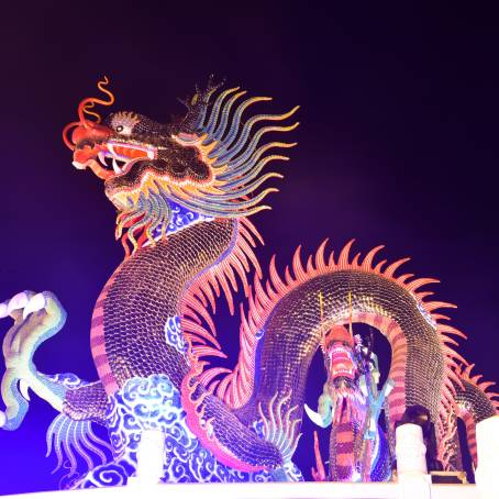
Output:
[[73,165],[90,168],[104,181],[107,197],[119,211],[117,237],[129,253],[127,242],[135,251],[144,242],[154,244],[165,235],[171,221],[171,207],[177,204],[192,212],[213,218],[239,218],[269,207],[262,200],[277,189],[255,191],[271,177],[260,175],[273,159],[281,155],[265,155],[271,147],[295,144],[271,142],[259,145],[267,132],[285,132],[290,126],[260,126],[260,121],[280,121],[290,112],[259,114],[242,124],[243,111],[258,101],[256,97],[234,103],[245,92],[231,88],[212,97],[221,85],[212,78],[206,90],[196,89],[184,103],[187,114],[176,122],[162,124],[135,112],[114,112],[104,120],[93,110],[96,104],[111,106],[113,95],[108,79],[98,88],[107,99],[87,98],[78,107],[78,121],[63,132],[66,145],[73,151]]

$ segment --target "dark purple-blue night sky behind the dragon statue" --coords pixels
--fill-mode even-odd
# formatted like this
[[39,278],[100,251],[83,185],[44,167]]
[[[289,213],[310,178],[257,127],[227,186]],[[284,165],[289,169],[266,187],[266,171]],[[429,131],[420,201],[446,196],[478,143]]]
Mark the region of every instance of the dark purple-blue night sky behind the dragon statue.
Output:
[[[16,3],[2,8],[0,30],[0,299],[48,289],[66,307],[65,329],[35,357],[40,370],[95,379],[91,311],[122,258],[113,208],[100,180],[71,166],[63,126],[102,75],[115,110],[166,122],[182,112],[176,98],[214,73],[252,96],[273,96],[274,112],[301,106],[299,146],[277,166],[285,179],[274,210],[254,218],[266,240],[262,262],[278,253],[288,263],[298,244],[311,252],[326,236],[335,248],[355,237],[363,253],[386,244],[384,258],[411,256],[407,271],[440,278],[437,299],[458,306],[453,324],[469,336],[461,353],[499,380],[491,9]],[[221,331],[233,355],[236,322]],[[2,335],[8,326],[1,322]],[[320,374],[310,380],[312,404],[322,382]],[[56,487],[55,459],[44,457],[54,415],[33,400],[22,428],[0,433],[0,494]],[[308,472],[311,426],[304,431]]]

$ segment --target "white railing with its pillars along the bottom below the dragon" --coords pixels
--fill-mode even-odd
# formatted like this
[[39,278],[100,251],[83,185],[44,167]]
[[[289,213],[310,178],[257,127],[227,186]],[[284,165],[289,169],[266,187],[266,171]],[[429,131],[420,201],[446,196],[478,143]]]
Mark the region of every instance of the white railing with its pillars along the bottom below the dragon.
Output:
[[136,476],[126,487],[3,496],[5,499],[499,499],[499,415],[477,425],[477,486],[434,485],[426,472],[421,428],[403,424],[396,432],[397,481],[384,484],[165,484],[164,436],[142,434]]

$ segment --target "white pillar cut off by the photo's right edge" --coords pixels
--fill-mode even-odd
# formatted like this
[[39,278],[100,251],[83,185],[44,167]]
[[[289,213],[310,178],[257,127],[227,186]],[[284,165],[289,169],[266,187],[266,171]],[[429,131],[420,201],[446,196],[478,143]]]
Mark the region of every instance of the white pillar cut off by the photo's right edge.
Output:
[[480,421],[476,426],[477,469],[475,480],[480,498],[498,497],[499,488],[499,414]]

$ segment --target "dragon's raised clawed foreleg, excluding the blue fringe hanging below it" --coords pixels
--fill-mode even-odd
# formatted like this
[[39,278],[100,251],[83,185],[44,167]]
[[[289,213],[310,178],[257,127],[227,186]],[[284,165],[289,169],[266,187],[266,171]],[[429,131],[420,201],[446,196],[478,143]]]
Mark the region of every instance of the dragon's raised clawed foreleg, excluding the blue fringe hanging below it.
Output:
[[33,363],[38,346],[57,334],[66,321],[66,312],[55,295],[20,292],[0,304],[0,318],[7,315],[14,323],[2,346],[7,367],[1,382],[5,404],[5,411],[0,412],[3,430],[15,430],[22,423],[29,409],[29,389],[75,420],[102,422],[107,397],[100,382],[88,385],[71,374],[45,375]]

